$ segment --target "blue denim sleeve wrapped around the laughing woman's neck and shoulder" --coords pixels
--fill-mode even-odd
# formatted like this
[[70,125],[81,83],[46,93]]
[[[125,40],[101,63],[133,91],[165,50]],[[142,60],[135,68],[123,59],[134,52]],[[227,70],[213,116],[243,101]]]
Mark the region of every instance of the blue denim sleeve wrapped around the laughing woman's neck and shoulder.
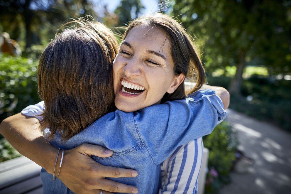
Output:
[[199,90],[184,100],[147,107],[135,115],[135,122],[150,156],[160,164],[178,146],[210,134],[225,117],[215,92]]

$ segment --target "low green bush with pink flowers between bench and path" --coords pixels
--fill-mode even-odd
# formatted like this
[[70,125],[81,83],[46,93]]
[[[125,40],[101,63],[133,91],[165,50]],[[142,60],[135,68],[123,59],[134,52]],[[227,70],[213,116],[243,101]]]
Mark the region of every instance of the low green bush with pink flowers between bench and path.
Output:
[[228,122],[217,125],[214,131],[203,137],[204,147],[209,149],[205,193],[218,193],[222,184],[230,182],[230,171],[236,160],[238,141]]

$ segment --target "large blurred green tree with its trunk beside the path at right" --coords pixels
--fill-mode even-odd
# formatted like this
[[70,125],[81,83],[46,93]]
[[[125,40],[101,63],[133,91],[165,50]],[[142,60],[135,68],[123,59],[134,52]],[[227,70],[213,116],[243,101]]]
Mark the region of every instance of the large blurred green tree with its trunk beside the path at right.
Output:
[[175,0],[166,13],[204,45],[207,71],[236,66],[229,90],[239,94],[245,66],[290,73],[291,1]]

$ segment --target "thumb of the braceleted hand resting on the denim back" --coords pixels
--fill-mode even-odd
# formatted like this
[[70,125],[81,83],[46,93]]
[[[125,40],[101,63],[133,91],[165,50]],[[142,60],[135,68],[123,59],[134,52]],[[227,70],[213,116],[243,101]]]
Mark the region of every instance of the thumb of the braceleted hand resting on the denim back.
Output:
[[80,152],[91,156],[99,156],[101,158],[107,158],[113,154],[112,150],[106,149],[102,146],[92,145],[92,144],[82,144],[79,146]]

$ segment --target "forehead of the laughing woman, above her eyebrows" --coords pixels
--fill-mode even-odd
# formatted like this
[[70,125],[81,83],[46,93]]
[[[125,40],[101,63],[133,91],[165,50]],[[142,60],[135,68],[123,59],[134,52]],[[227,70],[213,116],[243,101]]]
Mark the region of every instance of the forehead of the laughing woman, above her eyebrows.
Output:
[[159,53],[167,52],[170,55],[170,39],[167,33],[159,27],[136,26],[128,32],[124,41],[136,46],[147,46],[147,49],[150,48]]

